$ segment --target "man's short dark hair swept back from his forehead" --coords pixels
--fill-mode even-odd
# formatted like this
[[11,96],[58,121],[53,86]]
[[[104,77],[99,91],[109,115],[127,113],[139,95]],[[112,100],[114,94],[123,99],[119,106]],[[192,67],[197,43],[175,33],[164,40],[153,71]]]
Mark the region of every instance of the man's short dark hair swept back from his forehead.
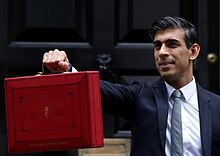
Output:
[[194,43],[199,43],[195,27],[190,22],[180,17],[166,16],[159,18],[150,26],[148,33],[152,40],[159,30],[181,28],[185,31],[185,43],[189,49]]

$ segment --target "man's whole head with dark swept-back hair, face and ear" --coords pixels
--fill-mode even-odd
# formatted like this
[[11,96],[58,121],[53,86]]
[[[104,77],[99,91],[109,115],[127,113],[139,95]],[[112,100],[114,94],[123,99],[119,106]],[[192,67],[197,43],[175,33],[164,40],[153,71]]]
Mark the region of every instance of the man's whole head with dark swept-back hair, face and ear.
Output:
[[150,29],[154,44],[154,58],[162,78],[174,88],[192,80],[193,61],[200,51],[194,26],[179,17],[164,17]]

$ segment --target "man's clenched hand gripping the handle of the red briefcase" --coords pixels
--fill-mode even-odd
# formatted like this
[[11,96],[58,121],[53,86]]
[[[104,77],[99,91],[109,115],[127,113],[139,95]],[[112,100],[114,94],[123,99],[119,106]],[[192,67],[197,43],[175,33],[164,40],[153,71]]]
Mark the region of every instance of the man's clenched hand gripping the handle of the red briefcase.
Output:
[[58,49],[45,52],[43,56],[43,66],[48,68],[52,73],[67,72],[69,68],[69,60],[65,51]]

